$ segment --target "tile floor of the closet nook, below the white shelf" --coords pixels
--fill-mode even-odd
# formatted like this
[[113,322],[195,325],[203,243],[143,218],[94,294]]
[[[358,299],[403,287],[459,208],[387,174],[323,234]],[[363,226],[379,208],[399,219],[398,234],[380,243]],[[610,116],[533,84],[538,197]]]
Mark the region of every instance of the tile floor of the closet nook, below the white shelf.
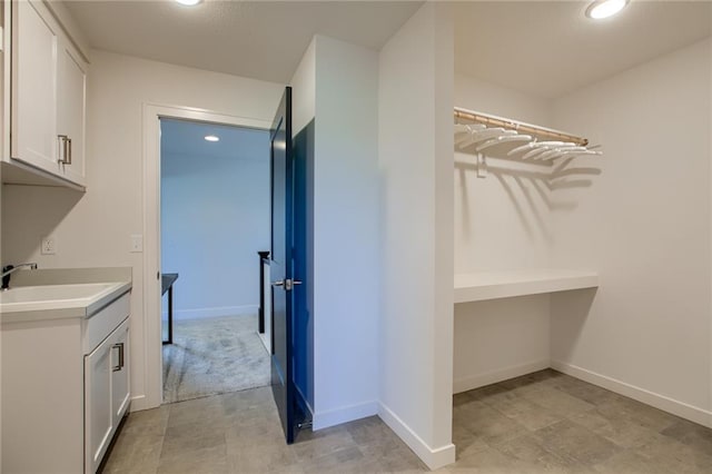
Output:
[[712,429],[542,371],[454,396],[452,473],[712,473]]

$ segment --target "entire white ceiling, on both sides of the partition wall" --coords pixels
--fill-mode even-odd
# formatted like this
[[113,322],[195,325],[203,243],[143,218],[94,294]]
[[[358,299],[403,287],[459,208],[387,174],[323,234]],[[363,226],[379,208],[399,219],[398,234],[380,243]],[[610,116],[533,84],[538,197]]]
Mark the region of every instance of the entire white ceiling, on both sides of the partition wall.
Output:
[[[98,49],[267,81],[290,80],[315,33],[379,49],[422,1],[69,1]],[[457,1],[455,69],[555,98],[709,37],[712,0],[631,0],[617,17],[587,1]]]

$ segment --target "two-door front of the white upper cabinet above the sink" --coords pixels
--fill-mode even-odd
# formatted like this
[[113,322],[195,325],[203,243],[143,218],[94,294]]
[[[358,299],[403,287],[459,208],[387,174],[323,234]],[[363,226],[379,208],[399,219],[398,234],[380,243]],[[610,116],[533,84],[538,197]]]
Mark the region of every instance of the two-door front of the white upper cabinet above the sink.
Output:
[[83,187],[87,65],[41,1],[11,8],[10,162]]

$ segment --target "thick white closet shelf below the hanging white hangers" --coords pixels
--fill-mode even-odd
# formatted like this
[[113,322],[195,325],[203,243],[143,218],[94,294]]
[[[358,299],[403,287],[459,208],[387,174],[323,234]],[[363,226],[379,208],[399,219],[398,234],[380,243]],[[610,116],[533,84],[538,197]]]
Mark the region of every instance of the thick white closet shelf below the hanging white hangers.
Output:
[[591,270],[478,271],[455,275],[455,303],[483,302],[597,286],[599,274]]

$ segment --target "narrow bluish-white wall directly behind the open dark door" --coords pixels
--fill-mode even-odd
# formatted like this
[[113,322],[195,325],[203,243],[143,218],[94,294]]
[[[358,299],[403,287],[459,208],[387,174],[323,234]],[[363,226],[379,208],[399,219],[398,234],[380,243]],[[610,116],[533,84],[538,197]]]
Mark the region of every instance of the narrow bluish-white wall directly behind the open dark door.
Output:
[[316,428],[377,413],[378,53],[316,37]]

